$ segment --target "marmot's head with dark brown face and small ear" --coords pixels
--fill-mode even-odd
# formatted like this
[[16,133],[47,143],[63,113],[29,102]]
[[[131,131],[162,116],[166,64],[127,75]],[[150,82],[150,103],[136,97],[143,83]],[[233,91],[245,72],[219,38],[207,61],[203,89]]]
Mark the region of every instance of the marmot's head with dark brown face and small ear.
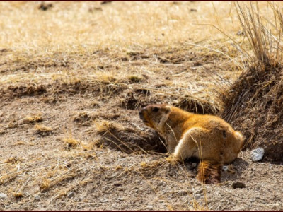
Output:
[[148,105],[139,111],[139,118],[157,131],[162,131],[162,127],[167,121],[171,107],[169,105]]

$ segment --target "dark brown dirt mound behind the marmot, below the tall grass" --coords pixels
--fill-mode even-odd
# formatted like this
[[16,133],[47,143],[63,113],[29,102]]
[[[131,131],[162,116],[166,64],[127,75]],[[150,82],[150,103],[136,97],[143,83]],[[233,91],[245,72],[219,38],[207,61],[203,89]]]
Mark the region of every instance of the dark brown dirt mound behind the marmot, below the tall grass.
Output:
[[246,136],[246,148],[265,149],[263,160],[283,158],[283,67],[250,67],[224,95],[222,117]]

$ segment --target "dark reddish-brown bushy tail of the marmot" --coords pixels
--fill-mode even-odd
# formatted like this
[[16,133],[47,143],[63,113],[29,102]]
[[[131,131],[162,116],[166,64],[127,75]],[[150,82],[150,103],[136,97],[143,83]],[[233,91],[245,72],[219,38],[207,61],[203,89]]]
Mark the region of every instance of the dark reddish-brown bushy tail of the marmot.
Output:
[[220,182],[222,164],[216,161],[200,161],[197,179],[204,184],[215,184]]

